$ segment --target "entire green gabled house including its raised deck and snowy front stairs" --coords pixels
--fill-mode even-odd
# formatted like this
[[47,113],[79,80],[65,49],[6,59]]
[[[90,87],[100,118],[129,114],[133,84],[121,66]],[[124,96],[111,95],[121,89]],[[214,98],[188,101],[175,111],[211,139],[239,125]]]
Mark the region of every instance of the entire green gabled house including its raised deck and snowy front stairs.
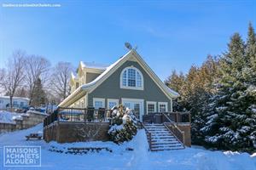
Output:
[[172,111],[179,94],[166,87],[135,49],[108,66],[80,62],[70,86],[72,93],[44,119],[47,142],[108,141],[111,109],[122,104],[145,128],[150,150],[191,145],[190,114]]

